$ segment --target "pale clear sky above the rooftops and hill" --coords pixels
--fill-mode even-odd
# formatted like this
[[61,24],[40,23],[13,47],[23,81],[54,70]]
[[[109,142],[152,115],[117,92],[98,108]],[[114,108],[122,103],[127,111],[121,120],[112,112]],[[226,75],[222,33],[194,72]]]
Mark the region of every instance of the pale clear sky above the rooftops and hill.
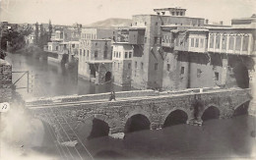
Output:
[[186,16],[224,21],[256,14],[256,0],[0,0],[0,20],[9,23],[90,25],[109,18],[132,19],[155,8],[181,7]]

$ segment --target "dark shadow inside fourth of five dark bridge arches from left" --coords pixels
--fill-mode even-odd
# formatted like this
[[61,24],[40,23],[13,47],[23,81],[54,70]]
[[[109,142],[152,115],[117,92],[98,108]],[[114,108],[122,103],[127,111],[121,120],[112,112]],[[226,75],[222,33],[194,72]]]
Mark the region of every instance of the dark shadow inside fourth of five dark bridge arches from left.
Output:
[[221,111],[218,107],[211,105],[209,107],[207,107],[202,116],[201,119],[203,121],[208,121],[208,120],[212,120],[212,119],[219,119],[221,115]]

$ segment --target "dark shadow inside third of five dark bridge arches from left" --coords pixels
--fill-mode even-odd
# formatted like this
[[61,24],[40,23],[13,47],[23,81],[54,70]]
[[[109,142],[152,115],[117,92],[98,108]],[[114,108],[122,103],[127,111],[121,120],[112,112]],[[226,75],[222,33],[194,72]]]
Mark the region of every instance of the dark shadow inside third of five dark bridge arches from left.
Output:
[[176,109],[171,111],[168,116],[164,119],[164,123],[162,128],[179,125],[179,124],[186,124],[188,120],[188,115],[185,111]]

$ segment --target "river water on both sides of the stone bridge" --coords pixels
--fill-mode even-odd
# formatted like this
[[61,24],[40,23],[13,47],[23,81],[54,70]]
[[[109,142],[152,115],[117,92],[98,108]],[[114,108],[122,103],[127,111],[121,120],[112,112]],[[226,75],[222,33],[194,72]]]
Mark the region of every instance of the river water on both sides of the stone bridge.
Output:
[[[13,71],[30,71],[30,93],[27,92],[27,89],[18,90],[25,98],[109,92],[111,89],[127,90],[115,85],[96,85],[87,80],[78,79],[76,72],[33,57],[9,55],[6,59],[13,65]],[[19,79],[19,76],[14,75],[13,79],[15,81]],[[19,82],[17,86],[26,86],[27,84],[27,80],[24,78]],[[17,117],[19,116],[17,115]],[[22,125],[29,124],[28,121],[31,120],[23,117],[17,118],[17,121],[20,121],[19,124]],[[21,155],[25,158],[32,158],[35,152],[35,155],[43,157],[42,159],[47,159],[49,156],[63,159],[65,153],[58,151],[63,147],[57,148],[54,145],[54,138],[52,138],[50,130],[36,120],[33,120],[33,123],[36,124],[36,127],[32,125],[33,129],[36,129],[36,135],[34,135],[34,131],[32,134],[37,141],[35,140],[33,145],[28,145],[31,146],[27,148],[31,155],[29,153]],[[16,122],[12,124],[17,125]],[[256,141],[255,133],[253,133],[256,128],[255,124],[255,117],[243,115],[225,120],[209,120],[202,127],[176,125],[158,131],[127,133],[125,139],[103,136],[85,140],[83,143],[94,159],[256,158]],[[20,137],[23,138],[22,141],[32,139],[30,133],[23,133],[24,135]],[[86,159],[91,158],[81,144],[77,145],[77,149]],[[66,152],[66,154],[68,153]]]

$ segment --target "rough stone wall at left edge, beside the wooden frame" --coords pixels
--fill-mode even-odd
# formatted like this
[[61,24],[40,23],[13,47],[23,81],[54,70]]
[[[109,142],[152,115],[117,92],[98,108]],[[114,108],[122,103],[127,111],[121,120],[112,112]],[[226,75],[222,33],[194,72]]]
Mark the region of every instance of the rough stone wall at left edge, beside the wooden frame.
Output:
[[12,66],[0,59],[0,103],[9,102],[12,97]]

